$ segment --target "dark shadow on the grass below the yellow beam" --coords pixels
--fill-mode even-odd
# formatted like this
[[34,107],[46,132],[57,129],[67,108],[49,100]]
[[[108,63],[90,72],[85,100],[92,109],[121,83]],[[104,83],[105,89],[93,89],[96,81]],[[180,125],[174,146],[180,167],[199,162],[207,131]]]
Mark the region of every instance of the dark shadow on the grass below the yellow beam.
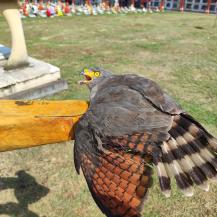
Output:
[[17,177],[0,177],[0,191],[14,189],[18,203],[8,202],[0,204],[0,215],[11,217],[39,217],[37,213],[29,210],[28,205],[39,201],[49,193],[49,189],[36,182],[35,178],[25,171],[16,173]]

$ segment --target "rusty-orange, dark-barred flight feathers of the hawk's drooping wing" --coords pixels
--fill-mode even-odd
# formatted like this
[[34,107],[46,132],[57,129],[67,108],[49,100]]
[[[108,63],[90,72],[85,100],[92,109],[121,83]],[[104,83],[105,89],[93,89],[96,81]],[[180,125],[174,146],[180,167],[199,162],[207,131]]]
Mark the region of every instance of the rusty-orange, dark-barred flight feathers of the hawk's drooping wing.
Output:
[[81,167],[96,203],[107,216],[139,217],[151,183],[148,162],[123,151],[95,157],[98,166],[85,156]]

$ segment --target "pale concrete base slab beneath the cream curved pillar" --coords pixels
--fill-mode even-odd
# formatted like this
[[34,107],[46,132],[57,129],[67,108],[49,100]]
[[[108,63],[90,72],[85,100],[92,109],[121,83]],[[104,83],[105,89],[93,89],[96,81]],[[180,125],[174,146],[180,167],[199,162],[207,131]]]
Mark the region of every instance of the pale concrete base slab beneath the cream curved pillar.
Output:
[[0,45],[0,99],[38,99],[66,90],[60,69],[29,57],[29,66],[6,71],[10,49]]

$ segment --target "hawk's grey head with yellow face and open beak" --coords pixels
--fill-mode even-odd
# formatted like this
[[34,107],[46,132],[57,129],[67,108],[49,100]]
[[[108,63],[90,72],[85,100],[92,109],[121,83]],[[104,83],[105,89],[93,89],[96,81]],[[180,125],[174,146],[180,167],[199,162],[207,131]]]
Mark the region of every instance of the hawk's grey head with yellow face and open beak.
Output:
[[84,68],[81,72],[81,75],[84,76],[84,79],[79,81],[79,84],[86,84],[89,87],[94,86],[103,78],[110,77],[112,74],[105,71],[101,68]]

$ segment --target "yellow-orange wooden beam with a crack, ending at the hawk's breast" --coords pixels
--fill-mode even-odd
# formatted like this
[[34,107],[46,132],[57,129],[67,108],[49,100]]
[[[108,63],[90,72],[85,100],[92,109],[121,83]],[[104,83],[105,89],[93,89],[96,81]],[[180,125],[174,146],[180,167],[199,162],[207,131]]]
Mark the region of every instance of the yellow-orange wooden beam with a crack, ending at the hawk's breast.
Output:
[[87,109],[79,100],[0,100],[0,152],[72,140]]

